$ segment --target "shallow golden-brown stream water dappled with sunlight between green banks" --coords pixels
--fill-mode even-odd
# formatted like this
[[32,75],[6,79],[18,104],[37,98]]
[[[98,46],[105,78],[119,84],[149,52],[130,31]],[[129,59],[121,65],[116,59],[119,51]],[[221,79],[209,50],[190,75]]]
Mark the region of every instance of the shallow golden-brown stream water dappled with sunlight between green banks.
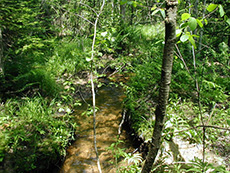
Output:
[[[114,158],[107,148],[117,140],[123,99],[123,92],[115,87],[104,87],[96,94],[96,106],[99,108],[96,113],[97,147],[102,172],[116,172],[115,165],[111,164]],[[99,171],[93,143],[93,117],[80,113],[76,117],[79,124],[77,139],[68,148],[60,173],[97,173]],[[132,150],[125,132],[122,132],[119,139],[125,141],[119,147]]]

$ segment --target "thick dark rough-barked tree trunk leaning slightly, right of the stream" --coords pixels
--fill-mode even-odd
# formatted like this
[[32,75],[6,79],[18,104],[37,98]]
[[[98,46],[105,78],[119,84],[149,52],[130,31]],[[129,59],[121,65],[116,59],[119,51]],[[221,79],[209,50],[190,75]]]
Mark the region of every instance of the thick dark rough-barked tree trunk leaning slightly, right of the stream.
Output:
[[166,115],[166,106],[168,103],[169,89],[171,83],[171,74],[173,66],[173,52],[176,42],[176,13],[177,0],[166,0],[166,18],[165,18],[165,46],[161,70],[161,84],[159,90],[158,106],[155,111],[156,121],[152,136],[152,142],[149,146],[149,153],[146,158],[142,173],[149,173],[157,156],[161,144],[162,130],[164,127],[164,117]]

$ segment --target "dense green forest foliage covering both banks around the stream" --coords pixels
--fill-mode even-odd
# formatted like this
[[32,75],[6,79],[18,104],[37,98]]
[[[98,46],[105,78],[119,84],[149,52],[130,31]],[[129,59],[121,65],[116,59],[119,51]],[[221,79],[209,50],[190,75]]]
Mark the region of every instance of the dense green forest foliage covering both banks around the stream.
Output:
[[[79,105],[77,91],[88,86],[92,23],[101,3],[1,0],[0,163],[4,169],[40,171],[65,157],[77,133],[71,114]],[[230,125],[229,5],[229,0],[180,0],[162,142],[176,136],[203,143],[221,156],[230,153],[229,131],[211,127],[229,129]],[[127,96],[124,107],[132,128],[146,141],[151,138],[158,102],[164,17],[163,0],[107,1],[96,35],[95,76],[104,77],[108,69],[129,76],[121,83]],[[86,80],[85,85],[77,83],[79,79]],[[210,126],[205,129],[205,143],[202,127],[191,129],[200,125]],[[140,171],[139,155],[132,158],[114,148],[116,159],[134,160],[121,172]],[[229,167],[229,160],[225,162]],[[163,161],[159,165],[158,171],[185,169]],[[224,170],[199,159],[187,166],[193,172]]]

